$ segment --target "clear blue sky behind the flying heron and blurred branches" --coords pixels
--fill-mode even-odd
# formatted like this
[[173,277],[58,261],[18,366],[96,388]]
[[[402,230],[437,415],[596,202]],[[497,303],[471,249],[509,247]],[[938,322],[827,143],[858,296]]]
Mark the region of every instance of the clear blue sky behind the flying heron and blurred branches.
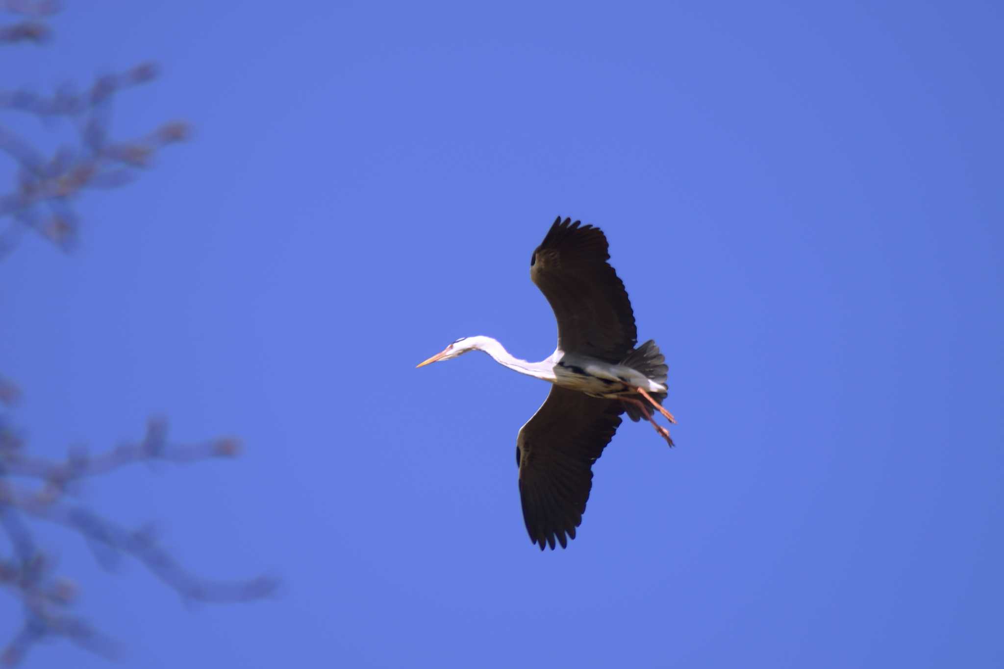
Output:
[[[153,59],[114,134],[196,134],[88,194],[75,254],[0,264],[14,418],[51,456],[152,413],[239,434],[83,499],[284,579],[193,611],[40,530],[123,666],[1004,664],[998,5],[66,5],[0,88]],[[513,451],[546,387],[414,366],[553,350],[558,215],[606,232],[680,424],[623,425],[541,554]],[[105,666],[26,666],[70,662]]]

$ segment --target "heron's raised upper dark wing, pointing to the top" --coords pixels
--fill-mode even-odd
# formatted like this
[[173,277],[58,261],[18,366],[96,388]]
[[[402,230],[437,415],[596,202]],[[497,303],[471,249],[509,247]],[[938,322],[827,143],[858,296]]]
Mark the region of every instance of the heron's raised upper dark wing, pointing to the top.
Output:
[[609,258],[601,230],[558,217],[533,252],[530,279],[554,310],[558,348],[620,362],[635,348],[638,330]]

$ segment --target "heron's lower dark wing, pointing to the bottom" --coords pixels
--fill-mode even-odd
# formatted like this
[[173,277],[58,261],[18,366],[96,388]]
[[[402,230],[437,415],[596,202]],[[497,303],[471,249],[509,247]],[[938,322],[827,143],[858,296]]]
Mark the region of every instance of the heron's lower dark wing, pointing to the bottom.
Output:
[[519,496],[530,541],[554,549],[575,539],[592,487],[592,463],[620,424],[622,404],[552,386],[516,437]]

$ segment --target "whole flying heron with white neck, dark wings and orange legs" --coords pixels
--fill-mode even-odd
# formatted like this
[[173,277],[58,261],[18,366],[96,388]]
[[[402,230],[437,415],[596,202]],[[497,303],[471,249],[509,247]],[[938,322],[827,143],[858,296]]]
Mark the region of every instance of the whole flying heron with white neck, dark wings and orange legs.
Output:
[[575,539],[592,487],[592,463],[620,425],[620,414],[646,418],[672,446],[654,417],[663,407],[668,368],[656,342],[637,347],[628,291],[610,267],[606,237],[593,226],[558,217],[530,257],[530,279],[558,322],[558,345],[540,362],[509,354],[491,337],[462,337],[420,363],[484,351],[521,374],[549,381],[551,391],[516,437],[519,494],[530,541],[554,549]]

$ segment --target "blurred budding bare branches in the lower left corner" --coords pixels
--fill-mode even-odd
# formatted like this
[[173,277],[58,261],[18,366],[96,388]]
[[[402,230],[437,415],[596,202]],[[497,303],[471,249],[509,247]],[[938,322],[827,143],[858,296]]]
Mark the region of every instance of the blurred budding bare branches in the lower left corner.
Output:
[[[53,575],[54,563],[35,545],[26,520],[53,523],[78,533],[105,569],[114,568],[122,556],[136,559],[187,602],[225,604],[273,595],[278,588],[275,579],[204,579],[182,566],[164,548],[153,526],[129,530],[65,500],[67,486],[83,477],[144,461],[187,463],[231,457],[239,448],[239,442],[229,437],[195,444],[169,443],[166,421],[152,418],[141,441],[123,443],[93,457],[71,452],[65,460],[55,461],[24,454],[23,440],[0,419],[0,528],[15,555],[13,560],[0,560],[0,586],[19,597],[26,616],[24,626],[7,645],[0,661],[20,661],[33,643],[48,636],[65,637],[106,657],[118,652],[108,637],[65,612],[75,600],[77,588],[71,581]],[[15,476],[41,479],[43,483],[31,489],[16,484],[12,479]]]

